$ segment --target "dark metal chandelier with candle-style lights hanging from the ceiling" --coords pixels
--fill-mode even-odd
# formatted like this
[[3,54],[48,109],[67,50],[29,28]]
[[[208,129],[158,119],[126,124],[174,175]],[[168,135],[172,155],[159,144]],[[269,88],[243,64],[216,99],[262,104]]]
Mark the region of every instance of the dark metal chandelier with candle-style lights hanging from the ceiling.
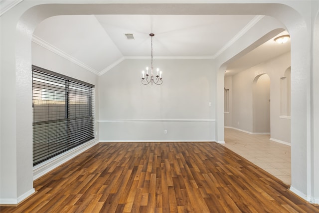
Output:
[[[151,54],[151,75],[149,75],[149,67],[146,67],[146,73],[144,72],[144,70],[142,71],[142,84],[144,85],[148,85],[149,83],[151,83],[151,85],[153,85],[153,83],[160,85],[163,83],[162,78],[161,78],[161,71],[159,68],[156,69],[156,76],[154,76],[153,73],[153,36],[155,34],[151,33],[151,48],[152,48],[152,54]],[[160,75],[159,75],[160,72]],[[145,75],[145,77],[144,77]]]

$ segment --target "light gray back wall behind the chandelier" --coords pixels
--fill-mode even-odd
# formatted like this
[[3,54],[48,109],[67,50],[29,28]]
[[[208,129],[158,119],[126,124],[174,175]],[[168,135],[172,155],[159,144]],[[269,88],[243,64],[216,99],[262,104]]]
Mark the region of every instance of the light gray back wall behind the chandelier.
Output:
[[124,60],[100,76],[100,141],[214,141],[213,60],[154,65],[163,71],[162,85],[141,83],[150,60]]

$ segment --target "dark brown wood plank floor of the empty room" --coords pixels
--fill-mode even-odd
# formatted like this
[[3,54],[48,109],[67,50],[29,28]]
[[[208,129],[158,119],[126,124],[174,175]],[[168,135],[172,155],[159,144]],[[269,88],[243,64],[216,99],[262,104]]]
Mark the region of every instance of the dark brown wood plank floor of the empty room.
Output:
[[99,143],[1,213],[316,213],[279,179],[217,143]]

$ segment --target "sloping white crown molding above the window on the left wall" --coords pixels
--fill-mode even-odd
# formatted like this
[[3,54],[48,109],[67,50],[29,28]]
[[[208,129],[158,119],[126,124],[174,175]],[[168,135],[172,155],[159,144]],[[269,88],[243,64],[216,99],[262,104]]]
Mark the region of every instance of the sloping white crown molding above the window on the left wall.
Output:
[[49,44],[48,42],[46,42],[45,40],[37,37],[36,35],[32,36],[32,42],[44,47],[45,49],[71,61],[72,63],[75,63],[76,65],[96,74],[99,75],[99,72],[96,69],[93,69],[92,67],[82,63],[81,61],[79,61],[78,59],[74,58],[73,56],[67,54],[66,52],[63,52],[62,50],[58,49],[57,47],[53,46],[52,44]]

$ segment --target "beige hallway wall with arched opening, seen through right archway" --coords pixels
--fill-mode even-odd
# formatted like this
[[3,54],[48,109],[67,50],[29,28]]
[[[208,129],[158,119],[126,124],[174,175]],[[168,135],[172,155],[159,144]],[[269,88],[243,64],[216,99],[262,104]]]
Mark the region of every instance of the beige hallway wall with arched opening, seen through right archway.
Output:
[[[225,87],[230,88],[229,114],[225,114],[225,126],[230,126],[250,133],[269,132],[265,124],[258,123],[266,118],[256,119],[254,123],[254,80],[267,74],[270,78],[270,132],[271,138],[279,142],[290,143],[290,118],[281,116],[281,78],[290,67],[290,52],[270,61],[258,64],[236,75],[225,77]],[[259,92],[255,91],[255,94]],[[266,95],[266,94],[264,94]],[[265,99],[264,99],[265,100]],[[255,104],[261,100],[256,99]],[[261,106],[266,106],[262,104]],[[258,106],[259,109],[261,106]],[[267,109],[260,111],[266,112]],[[260,113],[259,111],[259,113]],[[255,115],[258,113],[256,112]],[[256,123],[257,122],[257,123]]]

